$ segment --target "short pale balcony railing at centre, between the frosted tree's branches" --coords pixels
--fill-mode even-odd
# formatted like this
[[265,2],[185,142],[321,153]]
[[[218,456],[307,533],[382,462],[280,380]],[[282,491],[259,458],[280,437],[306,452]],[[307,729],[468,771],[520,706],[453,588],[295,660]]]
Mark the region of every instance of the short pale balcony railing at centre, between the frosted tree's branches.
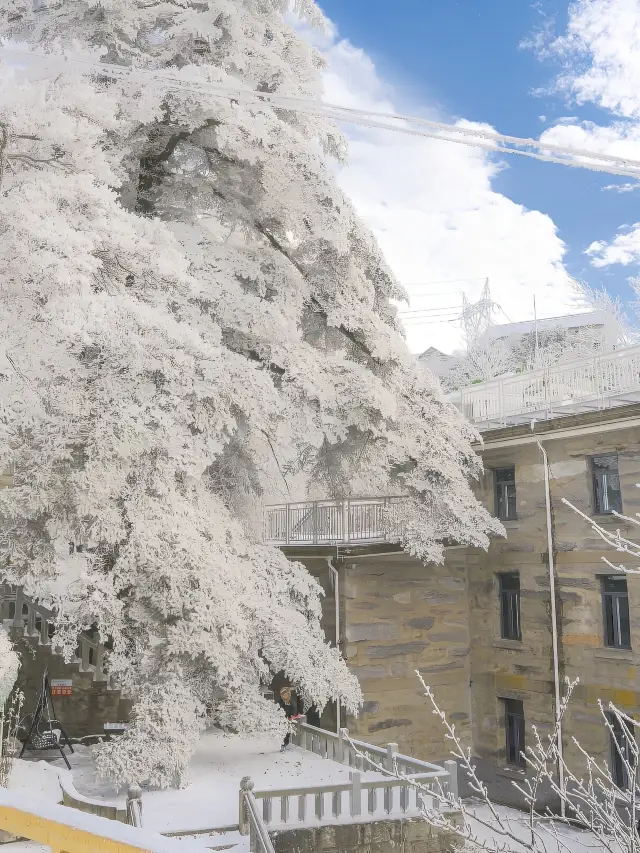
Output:
[[265,508],[264,538],[274,545],[387,542],[402,537],[403,497],[302,501]]

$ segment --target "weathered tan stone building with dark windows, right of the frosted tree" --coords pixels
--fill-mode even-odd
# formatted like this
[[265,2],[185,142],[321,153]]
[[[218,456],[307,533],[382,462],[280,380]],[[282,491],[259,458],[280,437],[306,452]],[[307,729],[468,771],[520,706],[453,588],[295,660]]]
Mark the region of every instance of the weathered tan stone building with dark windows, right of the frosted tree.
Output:
[[[332,640],[338,614],[339,642],[365,695],[350,730],[376,743],[397,742],[426,760],[446,758],[444,731],[422,695],[418,671],[472,748],[494,797],[518,804],[511,783],[526,774],[520,750],[531,742],[533,726],[551,731],[556,672],[561,694],[565,678],[579,679],[563,730],[571,762],[578,760],[573,736],[596,758],[612,759],[598,699],[640,713],[640,576],[615,572],[602,558],[628,568],[636,562],[612,551],[563,502],[638,538],[638,528],[611,510],[633,516],[640,508],[640,405],[493,428],[483,440],[478,497],[503,518],[507,534],[488,552],[451,547],[443,565],[423,565],[396,546],[345,541],[346,521],[341,538],[334,529],[336,541],[322,544],[318,531],[331,502],[312,507],[315,544],[307,523],[306,533],[298,525],[301,541],[283,548],[323,583]],[[549,513],[540,445],[548,457]],[[339,512],[381,517],[382,503],[353,502]]]

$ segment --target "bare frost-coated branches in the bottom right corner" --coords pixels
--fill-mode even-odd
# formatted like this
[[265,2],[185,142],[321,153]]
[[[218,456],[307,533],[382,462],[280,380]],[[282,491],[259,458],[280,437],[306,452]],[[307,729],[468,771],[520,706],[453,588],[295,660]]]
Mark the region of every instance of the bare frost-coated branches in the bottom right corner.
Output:
[[[402,779],[407,786],[418,791],[422,796],[424,820],[460,838],[467,846],[486,853],[575,853],[576,845],[586,850],[606,850],[607,853],[638,853],[640,750],[633,734],[634,721],[624,711],[611,703],[607,706],[598,703],[622,767],[625,785],[619,787],[611,769],[591,756],[575,738],[572,742],[579,760],[570,764],[559,756],[558,731],[577,684],[577,680],[567,681],[553,730],[543,736],[533,727],[533,745],[523,753],[526,776],[522,781],[512,782],[522,795],[526,811],[514,812],[492,801],[487,786],[478,775],[471,750],[462,744],[455,725],[439,707],[432,689],[419,673],[416,674],[432,713],[445,729],[445,739],[451,745],[450,754],[457,762],[461,776],[466,779],[471,798],[455,796],[439,782],[435,786],[426,786],[412,776],[400,773],[397,762],[390,769],[373,761],[353,743],[352,746],[371,769]],[[558,782],[559,761],[564,771],[562,786]],[[540,804],[543,794],[547,801],[551,794],[556,808]],[[565,806],[565,816],[561,816],[557,808],[561,803]],[[590,834],[579,834],[575,831],[576,826],[589,830]]]

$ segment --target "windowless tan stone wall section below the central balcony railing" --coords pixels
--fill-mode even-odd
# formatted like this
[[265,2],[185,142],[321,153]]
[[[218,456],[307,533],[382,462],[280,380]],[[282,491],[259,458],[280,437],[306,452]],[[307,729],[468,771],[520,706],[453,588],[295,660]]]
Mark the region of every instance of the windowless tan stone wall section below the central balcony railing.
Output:
[[417,670],[470,745],[464,554],[451,552],[446,566],[427,566],[403,552],[345,557],[341,576],[343,649],[365,700],[350,730],[426,761],[448,758]]

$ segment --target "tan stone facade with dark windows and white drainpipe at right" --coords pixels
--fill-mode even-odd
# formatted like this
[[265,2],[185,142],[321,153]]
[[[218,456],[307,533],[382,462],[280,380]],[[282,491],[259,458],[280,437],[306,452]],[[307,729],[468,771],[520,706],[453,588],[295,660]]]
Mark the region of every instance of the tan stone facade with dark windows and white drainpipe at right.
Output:
[[[564,420],[564,419],[563,419]],[[575,419],[572,419],[575,420]],[[559,624],[560,678],[579,678],[564,727],[565,756],[580,762],[571,738],[577,737],[596,758],[609,759],[609,741],[597,700],[615,701],[632,715],[640,711],[637,665],[640,663],[640,577],[628,576],[633,651],[604,646],[599,576],[611,574],[603,557],[635,567],[632,558],[616,554],[589,524],[562,502],[570,500],[593,514],[589,457],[617,452],[623,511],[634,514],[640,506],[640,435],[637,430],[564,434],[558,420],[547,425],[545,448],[549,456],[554,534],[556,606]],[[542,455],[531,441],[517,443],[514,431],[502,431],[504,442],[485,433],[483,459],[487,473],[478,495],[493,509],[493,468],[515,465],[517,515],[505,523],[506,539],[495,539],[488,553],[468,550],[466,565],[470,593],[473,746],[479,768],[494,796],[520,804],[511,781],[522,771],[506,766],[504,707],[501,699],[517,698],[524,704],[526,738],[532,726],[541,734],[553,723],[553,658],[550,584]],[[638,529],[611,517],[599,516],[603,526],[621,528],[638,539]],[[518,571],[521,583],[522,642],[500,639],[498,574]],[[580,762],[581,763],[581,762]]]

